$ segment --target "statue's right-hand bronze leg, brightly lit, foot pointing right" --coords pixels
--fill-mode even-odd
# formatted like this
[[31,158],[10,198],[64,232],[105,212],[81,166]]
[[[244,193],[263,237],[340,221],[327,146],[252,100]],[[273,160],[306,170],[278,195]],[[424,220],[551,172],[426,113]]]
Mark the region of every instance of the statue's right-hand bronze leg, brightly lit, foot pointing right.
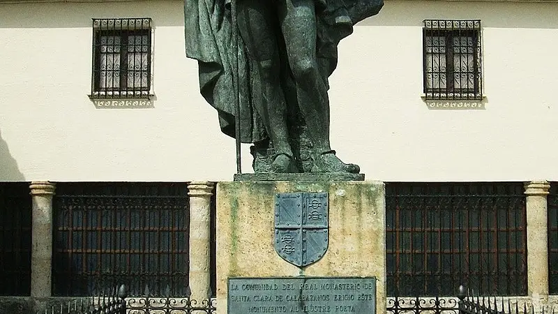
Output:
[[357,165],[335,156],[329,142],[329,98],[317,65],[314,0],[280,0],[279,17],[287,56],[296,82],[299,107],[312,139],[312,172],[354,172]]

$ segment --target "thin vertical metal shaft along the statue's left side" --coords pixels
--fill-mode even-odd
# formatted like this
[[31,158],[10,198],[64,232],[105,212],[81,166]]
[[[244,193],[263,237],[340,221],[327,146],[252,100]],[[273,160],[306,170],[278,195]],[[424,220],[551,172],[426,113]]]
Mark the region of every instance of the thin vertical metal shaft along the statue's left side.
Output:
[[239,26],[236,15],[236,0],[231,1],[232,49],[234,64],[232,66],[232,81],[234,84],[234,140],[236,140],[236,173],[242,173],[241,142],[240,142],[240,85],[239,85]]

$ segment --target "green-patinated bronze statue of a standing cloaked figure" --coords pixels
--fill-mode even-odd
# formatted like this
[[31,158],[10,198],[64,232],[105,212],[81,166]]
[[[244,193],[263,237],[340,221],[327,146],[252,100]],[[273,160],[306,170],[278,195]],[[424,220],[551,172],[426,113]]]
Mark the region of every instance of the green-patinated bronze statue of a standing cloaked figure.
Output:
[[232,1],[236,12],[227,0],[185,0],[184,10],[186,54],[223,132],[254,143],[255,172],[359,173],[330,147],[328,77],[339,41],[383,1]]

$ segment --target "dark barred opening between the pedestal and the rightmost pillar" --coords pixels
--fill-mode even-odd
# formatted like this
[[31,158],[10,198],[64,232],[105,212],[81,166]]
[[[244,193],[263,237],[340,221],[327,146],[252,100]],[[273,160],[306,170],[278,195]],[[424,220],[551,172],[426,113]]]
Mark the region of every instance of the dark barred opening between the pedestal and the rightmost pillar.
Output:
[[386,184],[389,296],[527,294],[522,183]]

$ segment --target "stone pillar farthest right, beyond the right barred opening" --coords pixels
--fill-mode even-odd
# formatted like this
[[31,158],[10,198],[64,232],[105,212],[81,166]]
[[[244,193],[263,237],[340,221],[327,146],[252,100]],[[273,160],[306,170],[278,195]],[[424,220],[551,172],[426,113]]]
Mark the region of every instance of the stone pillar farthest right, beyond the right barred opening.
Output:
[[525,183],[527,195],[527,290],[533,301],[548,300],[547,181]]

